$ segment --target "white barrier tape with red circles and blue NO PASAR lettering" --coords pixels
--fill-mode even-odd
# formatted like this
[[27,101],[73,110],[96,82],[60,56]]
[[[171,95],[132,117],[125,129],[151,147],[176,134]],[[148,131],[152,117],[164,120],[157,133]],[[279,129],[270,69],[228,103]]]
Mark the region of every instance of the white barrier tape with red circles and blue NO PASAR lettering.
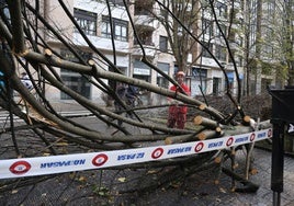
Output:
[[272,129],[216,139],[147,148],[0,160],[0,179],[94,170],[163,160],[250,144],[272,137]]

